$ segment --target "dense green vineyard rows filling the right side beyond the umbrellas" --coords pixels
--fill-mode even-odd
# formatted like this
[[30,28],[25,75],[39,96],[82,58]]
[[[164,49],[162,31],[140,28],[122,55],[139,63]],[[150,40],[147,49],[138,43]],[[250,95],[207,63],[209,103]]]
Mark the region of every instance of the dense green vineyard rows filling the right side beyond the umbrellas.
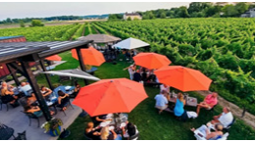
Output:
[[[101,33],[139,38],[175,65],[202,71],[210,90],[255,112],[255,20],[170,19],[95,23]],[[140,49],[141,50],[141,49]],[[142,49],[143,50],[143,49]]]

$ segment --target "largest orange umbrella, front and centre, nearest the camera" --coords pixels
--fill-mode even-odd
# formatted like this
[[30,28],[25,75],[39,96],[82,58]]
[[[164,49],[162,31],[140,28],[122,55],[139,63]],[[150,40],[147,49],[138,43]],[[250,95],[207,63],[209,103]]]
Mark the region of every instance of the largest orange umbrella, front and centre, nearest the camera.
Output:
[[147,97],[141,83],[128,78],[103,79],[82,87],[73,104],[94,117],[129,113]]

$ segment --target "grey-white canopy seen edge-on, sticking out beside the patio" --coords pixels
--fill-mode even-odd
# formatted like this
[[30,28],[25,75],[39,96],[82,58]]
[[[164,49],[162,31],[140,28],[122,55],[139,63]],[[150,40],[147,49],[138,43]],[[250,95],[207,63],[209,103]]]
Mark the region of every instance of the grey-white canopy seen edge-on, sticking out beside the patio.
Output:
[[41,73],[56,74],[56,75],[61,75],[61,76],[71,76],[71,77],[84,78],[84,79],[95,80],[95,81],[100,80],[100,78],[95,77],[95,76],[93,76],[89,73],[86,73],[84,71],[80,71],[78,69],[63,70],[63,71],[43,71]]

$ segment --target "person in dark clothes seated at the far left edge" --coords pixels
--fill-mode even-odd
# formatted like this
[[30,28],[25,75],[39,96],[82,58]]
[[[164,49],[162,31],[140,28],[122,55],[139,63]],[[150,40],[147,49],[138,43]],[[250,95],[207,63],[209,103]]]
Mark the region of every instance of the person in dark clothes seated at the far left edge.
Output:
[[1,100],[3,103],[10,103],[12,105],[16,104],[16,100],[18,99],[18,96],[14,96],[14,92],[10,89],[8,89],[6,82],[2,82],[2,88],[1,88]]

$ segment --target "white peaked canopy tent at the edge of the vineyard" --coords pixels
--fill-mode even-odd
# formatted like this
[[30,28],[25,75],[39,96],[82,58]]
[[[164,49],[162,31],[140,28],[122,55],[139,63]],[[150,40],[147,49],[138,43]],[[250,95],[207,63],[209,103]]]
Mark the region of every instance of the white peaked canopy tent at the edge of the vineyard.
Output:
[[142,40],[129,37],[128,39],[125,39],[113,46],[119,47],[122,49],[134,49],[139,47],[146,47],[146,46],[149,46],[149,44]]

